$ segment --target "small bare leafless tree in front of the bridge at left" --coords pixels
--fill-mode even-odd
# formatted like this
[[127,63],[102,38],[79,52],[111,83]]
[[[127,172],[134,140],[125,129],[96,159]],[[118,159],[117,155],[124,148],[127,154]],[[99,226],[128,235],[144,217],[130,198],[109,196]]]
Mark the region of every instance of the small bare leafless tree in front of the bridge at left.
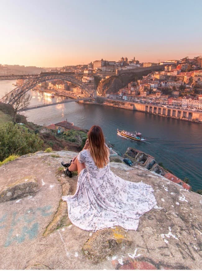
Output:
[[17,111],[20,110],[20,109],[27,108],[29,106],[29,104],[30,104],[30,100],[31,100],[30,94],[25,92],[25,93],[19,94],[19,96],[16,98],[16,101],[14,103],[9,102],[12,105],[13,109],[14,109],[14,112],[13,112],[13,115],[12,115],[12,121],[13,122],[16,122]]

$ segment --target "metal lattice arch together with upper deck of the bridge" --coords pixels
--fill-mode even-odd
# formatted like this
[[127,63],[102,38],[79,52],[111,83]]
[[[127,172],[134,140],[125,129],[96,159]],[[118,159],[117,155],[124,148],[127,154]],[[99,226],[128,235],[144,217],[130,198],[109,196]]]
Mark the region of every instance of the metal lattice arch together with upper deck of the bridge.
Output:
[[[60,73],[44,73],[44,74],[30,74],[30,75],[10,75],[10,76],[0,76],[0,80],[11,80],[11,79],[30,79],[28,82],[24,83],[23,85],[14,88],[11,92],[7,93],[0,102],[3,103],[10,103],[13,105],[19,97],[24,95],[28,92],[31,88],[34,88],[39,83],[43,83],[45,81],[50,81],[54,79],[60,79],[64,81],[68,81],[79,86],[86,97],[89,98],[96,98],[96,91],[94,90],[94,94],[90,92],[90,90],[86,87],[86,85],[79,79],[76,78],[76,74],[73,75],[72,73],[68,74],[60,74]],[[75,101],[75,100],[74,100]],[[53,104],[51,104],[53,105]]]

